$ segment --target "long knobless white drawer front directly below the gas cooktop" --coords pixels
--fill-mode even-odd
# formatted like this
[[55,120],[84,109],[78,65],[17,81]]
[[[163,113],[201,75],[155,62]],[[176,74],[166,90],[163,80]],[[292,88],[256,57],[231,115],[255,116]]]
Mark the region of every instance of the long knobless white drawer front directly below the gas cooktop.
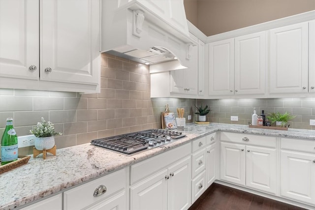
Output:
[[130,166],[130,184],[164,169],[167,165],[190,155],[190,152],[191,144],[186,144]]

